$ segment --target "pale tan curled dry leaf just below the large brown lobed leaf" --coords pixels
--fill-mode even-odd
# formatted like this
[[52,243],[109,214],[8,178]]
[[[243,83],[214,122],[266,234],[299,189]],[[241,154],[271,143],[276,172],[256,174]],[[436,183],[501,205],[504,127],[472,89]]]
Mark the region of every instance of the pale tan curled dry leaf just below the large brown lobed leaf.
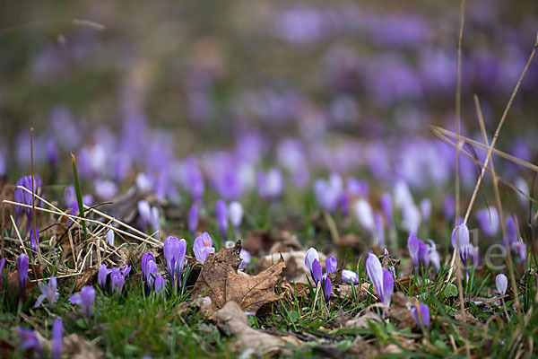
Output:
[[236,351],[247,349],[256,356],[269,357],[281,354],[286,357],[291,355],[290,349],[285,347],[287,344],[302,345],[296,337],[276,337],[262,330],[248,327],[247,315],[237,302],[227,302],[220,311],[213,313],[213,317],[222,331],[238,336],[232,345]]

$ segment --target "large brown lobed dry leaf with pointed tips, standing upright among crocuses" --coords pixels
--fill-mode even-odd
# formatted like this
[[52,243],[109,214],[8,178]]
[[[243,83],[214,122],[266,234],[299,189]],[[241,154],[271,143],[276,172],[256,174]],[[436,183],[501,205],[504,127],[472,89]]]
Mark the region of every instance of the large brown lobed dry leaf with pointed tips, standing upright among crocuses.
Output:
[[227,302],[237,302],[243,311],[256,312],[262,305],[274,302],[279,296],[274,288],[282,280],[284,260],[279,259],[273,266],[256,276],[238,273],[241,241],[233,248],[210,253],[195,283],[192,298],[198,295],[211,298],[210,313],[218,311]]

